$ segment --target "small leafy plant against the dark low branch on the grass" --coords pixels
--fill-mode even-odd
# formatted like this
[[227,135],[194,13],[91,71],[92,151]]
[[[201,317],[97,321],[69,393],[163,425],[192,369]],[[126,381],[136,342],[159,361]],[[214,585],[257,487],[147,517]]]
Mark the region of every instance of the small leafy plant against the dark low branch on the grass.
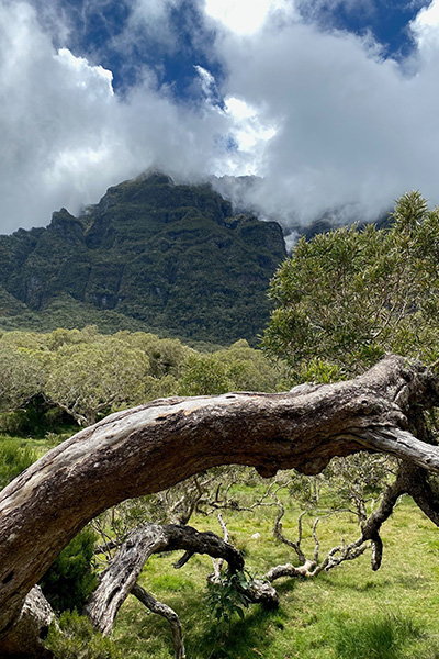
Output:
[[245,572],[234,572],[209,583],[206,604],[213,618],[217,622],[217,635],[226,636],[230,632],[235,617],[245,617],[251,579]]

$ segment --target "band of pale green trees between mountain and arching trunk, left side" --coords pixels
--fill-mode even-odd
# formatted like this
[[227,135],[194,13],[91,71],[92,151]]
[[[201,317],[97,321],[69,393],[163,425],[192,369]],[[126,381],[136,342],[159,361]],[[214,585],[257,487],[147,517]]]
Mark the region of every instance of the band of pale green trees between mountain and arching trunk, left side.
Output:
[[61,431],[68,420],[90,425],[100,416],[157,398],[229,390],[274,391],[279,369],[239,340],[228,349],[198,353],[178,339],[95,325],[0,336],[0,429],[12,434]]

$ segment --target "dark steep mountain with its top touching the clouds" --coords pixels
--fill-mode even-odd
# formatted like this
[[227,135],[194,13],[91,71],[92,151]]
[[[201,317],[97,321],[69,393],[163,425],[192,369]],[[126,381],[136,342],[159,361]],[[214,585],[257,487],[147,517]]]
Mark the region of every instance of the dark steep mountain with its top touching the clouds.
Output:
[[0,287],[16,301],[11,314],[67,294],[153,331],[226,343],[261,332],[284,257],[277,223],[234,216],[210,186],[154,174],[110,188],[79,217],[61,209],[47,228],[0,236]]

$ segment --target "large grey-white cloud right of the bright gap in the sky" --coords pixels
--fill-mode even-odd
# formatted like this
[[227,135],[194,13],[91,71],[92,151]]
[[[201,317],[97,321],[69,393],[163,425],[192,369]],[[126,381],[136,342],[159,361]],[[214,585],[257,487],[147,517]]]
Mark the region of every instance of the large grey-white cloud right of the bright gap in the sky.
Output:
[[252,170],[264,177],[249,197],[255,208],[292,225],[327,212],[373,220],[416,188],[439,203],[439,48],[429,35],[427,58],[425,32],[415,36],[406,69],[370,36],[309,24],[218,38],[227,93],[277,127]]

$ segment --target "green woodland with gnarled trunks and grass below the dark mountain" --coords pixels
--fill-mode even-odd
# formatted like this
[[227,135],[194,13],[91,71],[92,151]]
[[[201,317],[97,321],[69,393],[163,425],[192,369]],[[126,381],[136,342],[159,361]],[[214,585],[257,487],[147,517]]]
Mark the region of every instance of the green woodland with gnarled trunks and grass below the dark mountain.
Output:
[[3,332],[1,656],[439,658],[438,263],[410,192],[297,242],[258,348]]

